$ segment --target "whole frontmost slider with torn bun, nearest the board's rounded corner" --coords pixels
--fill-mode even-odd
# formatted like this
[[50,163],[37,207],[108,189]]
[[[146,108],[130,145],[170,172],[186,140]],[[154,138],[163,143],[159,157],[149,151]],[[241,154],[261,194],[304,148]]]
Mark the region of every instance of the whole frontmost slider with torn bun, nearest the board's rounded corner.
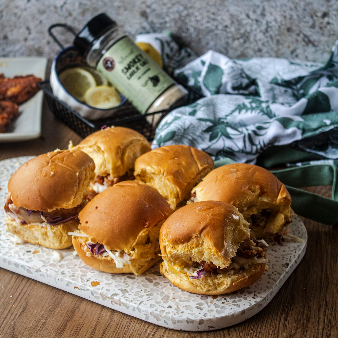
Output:
[[265,246],[250,237],[249,224],[231,204],[191,203],[161,227],[160,271],[188,292],[229,293],[260,279],[268,263]]

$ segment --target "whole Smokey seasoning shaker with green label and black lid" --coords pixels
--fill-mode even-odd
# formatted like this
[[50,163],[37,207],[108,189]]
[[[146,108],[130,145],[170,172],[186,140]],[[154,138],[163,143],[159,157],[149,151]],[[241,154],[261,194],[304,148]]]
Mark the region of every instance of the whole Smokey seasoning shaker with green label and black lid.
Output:
[[175,83],[106,14],[91,19],[76,35],[74,46],[140,113],[185,103],[186,89]]

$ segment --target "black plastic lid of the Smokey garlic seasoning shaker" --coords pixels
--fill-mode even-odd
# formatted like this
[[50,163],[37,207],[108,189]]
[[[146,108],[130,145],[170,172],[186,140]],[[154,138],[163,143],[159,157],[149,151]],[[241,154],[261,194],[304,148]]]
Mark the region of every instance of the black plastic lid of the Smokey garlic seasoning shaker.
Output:
[[101,13],[92,18],[77,34],[74,39],[74,46],[84,56],[87,55],[95,41],[107,30],[117,26],[116,22]]

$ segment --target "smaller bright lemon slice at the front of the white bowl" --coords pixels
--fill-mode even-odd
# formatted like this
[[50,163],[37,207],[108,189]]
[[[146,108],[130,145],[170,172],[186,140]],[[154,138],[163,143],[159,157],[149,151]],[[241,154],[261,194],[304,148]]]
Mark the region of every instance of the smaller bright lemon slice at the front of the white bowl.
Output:
[[119,92],[109,86],[97,86],[89,88],[84,95],[85,102],[94,108],[108,109],[121,103]]

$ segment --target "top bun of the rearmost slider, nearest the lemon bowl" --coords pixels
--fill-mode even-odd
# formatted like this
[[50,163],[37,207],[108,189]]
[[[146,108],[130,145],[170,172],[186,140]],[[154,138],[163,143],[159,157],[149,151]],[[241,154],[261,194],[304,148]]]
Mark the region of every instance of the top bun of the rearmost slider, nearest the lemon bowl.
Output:
[[76,149],[86,152],[95,162],[96,176],[112,178],[134,171],[135,160],[151,150],[139,132],[124,127],[107,127],[83,139]]

